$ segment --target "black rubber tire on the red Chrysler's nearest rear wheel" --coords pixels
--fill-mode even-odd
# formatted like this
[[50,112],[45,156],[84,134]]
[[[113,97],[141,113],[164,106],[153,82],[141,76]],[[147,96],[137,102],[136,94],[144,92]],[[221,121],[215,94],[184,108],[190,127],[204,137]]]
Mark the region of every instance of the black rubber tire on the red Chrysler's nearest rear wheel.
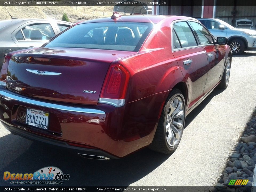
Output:
[[[178,100],[176,100],[176,98]],[[171,111],[172,111],[171,108],[170,108],[171,104],[174,105],[174,99],[175,99],[175,101],[178,101],[177,102],[177,107],[173,107],[174,111],[176,109],[178,109],[179,102],[181,102],[180,106],[182,106],[181,109],[183,109],[183,113],[184,113],[182,117],[178,117],[178,118],[176,117],[175,118],[175,114],[171,115],[171,116],[169,115],[169,114],[171,114]],[[165,105],[163,107],[161,117],[160,117],[159,122],[158,122],[157,130],[155,132],[153,142],[149,145],[149,149],[151,149],[153,151],[160,152],[160,153],[164,153],[164,154],[171,154],[178,148],[179,142],[181,141],[181,137],[182,137],[182,134],[183,134],[184,126],[185,126],[185,116],[186,116],[185,115],[185,111],[186,111],[185,107],[186,107],[185,99],[182,95],[182,92],[179,89],[176,89],[176,88],[171,90],[168,98],[166,99]],[[178,114],[181,114],[181,110],[179,111]],[[171,118],[170,121],[167,120],[167,115],[169,115],[169,117],[168,117],[169,119]],[[181,118],[183,118],[183,119],[180,120]],[[175,127],[176,126],[175,123],[177,123],[177,121],[182,122],[181,129],[179,129],[179,128],[177,129],[178,130],[177,133],[179,133],[179,134],[176,135],[173,131],[173,128],[169,128],[169,130],[171,132],[166,131],[167,130],[167,125],[168,125],[167,122],[169,122],[170,127],[172,127],[172,126]],[[169,133],[172,133],[173,136],[175,135],[173,137],[174,140],[175,140],[175,137],[179,135],[179,139],[174,142],[175,145],[173,145],[173,146],[171,146],[171,142],[173,140],[170,140],[171,142],[169,144],[167,142]],[[170,137],[171,137],[171,134],[170,134]]]

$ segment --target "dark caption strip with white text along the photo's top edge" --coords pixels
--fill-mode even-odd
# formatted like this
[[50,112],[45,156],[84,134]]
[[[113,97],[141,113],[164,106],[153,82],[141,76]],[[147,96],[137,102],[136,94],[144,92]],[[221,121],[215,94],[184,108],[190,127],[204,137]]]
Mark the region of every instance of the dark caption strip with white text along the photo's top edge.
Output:
[[[211,4],[212,3],[212,4]],[[215,4],[214,4],[215,3]],[[256,6],[256,0],[0,0],[4,6]]]

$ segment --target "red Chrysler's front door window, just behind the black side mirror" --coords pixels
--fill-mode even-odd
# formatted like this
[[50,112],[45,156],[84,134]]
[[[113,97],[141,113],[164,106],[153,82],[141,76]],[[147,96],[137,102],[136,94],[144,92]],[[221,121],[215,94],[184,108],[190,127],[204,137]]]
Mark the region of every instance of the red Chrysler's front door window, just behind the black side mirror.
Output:
[[190,22],[190,24],[194,29],[195,33],[197,34],[201,45],[213,43],[213,38],[211,37],[211,34],[200,23]]

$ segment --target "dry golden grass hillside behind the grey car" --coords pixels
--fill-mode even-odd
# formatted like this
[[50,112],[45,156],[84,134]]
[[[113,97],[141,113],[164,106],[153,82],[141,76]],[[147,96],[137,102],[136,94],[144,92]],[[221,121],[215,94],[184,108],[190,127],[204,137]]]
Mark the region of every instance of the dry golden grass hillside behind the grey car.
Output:
[[112,15],[113,6],[0,6],[0,20],[13,18],[53,18],[61,20],[64,13],[70,22]]

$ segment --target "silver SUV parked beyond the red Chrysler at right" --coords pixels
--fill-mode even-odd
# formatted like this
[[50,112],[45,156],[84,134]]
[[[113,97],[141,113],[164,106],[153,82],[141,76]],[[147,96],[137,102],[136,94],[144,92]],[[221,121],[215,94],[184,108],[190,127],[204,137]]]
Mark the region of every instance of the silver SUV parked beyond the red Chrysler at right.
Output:
[[220,19],[197,18],[197,20],[203,23],[215,38],[227,37],[233,55],[256,49],[256,31],[254,30],[236,29]]

